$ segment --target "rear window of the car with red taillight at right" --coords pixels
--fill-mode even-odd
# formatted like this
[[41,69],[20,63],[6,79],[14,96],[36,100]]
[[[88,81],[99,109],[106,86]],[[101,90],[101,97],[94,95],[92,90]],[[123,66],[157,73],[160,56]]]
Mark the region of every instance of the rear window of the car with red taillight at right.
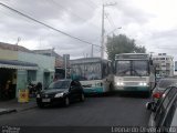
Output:
[[174,83],[176,83],[176,80],[173,80],[173,79],[171,80],[160,80],[157,84],[157,88],[166,89]]

